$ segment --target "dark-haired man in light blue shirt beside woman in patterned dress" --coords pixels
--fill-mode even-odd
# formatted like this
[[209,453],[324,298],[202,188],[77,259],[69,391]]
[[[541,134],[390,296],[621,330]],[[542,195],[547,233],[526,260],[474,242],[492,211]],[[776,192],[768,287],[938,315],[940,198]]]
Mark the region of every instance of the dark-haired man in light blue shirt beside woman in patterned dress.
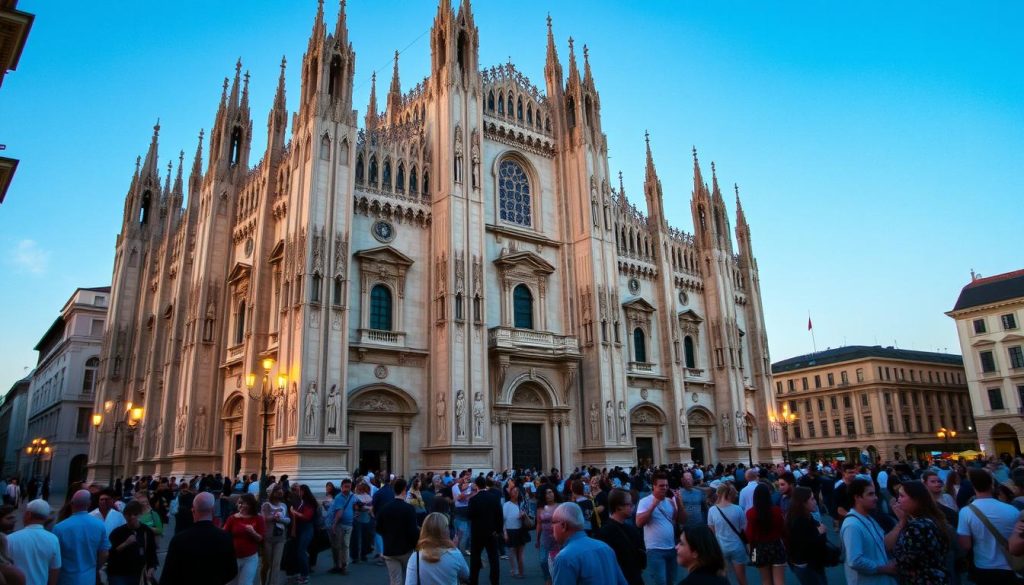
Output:
[[[886,535],[871,517],[879,504],[874,483],[855,477],[846,484],[853,503],[844,515],[840,538],[846,561],[843,572],[847,585],[895,585],[896,561],[886,552]],[[836,502],[839,507],[840,502]]]

